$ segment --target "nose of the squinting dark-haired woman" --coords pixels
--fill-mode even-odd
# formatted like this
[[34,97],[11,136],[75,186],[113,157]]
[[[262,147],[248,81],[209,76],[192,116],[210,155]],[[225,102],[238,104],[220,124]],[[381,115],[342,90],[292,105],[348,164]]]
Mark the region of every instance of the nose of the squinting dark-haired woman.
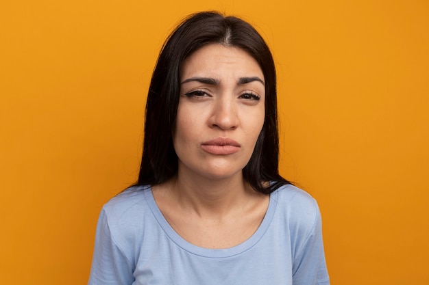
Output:
[[238,110],[234,104],[233,96],[220,96],[212,106],[212,114],[209,120],[212,128],[221,128],[226,131],[238,126]]

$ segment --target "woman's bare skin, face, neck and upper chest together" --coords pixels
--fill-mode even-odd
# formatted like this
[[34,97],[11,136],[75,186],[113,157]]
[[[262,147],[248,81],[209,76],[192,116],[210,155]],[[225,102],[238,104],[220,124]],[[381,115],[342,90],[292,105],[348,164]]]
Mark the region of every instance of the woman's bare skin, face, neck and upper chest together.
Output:
[[249,239],[269,196],[243,180],[265,118],[264,76],[245,51],[208,44],[181,70],[173,129],[177,176],[153,187],[160,211],[186,241],[228,248]]

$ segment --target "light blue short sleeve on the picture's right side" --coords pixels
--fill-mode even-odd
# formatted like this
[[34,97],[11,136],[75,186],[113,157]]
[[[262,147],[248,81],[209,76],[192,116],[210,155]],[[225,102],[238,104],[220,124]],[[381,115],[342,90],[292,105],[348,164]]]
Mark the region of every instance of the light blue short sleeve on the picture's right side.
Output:
[[[317,206],[317,204],[316,204]],[[312,230],[300,245],[293,260],[293,285],[329,285],[321,231],[321,216],[317,207]]]

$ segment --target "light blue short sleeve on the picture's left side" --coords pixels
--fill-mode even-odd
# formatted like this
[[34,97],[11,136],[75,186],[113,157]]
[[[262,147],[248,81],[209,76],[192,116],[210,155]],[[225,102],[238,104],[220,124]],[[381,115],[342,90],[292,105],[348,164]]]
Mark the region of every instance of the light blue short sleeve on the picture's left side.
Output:
[[134,276],[130,261],[115,243],[108,223],[106,211],[100,213],[93,264],[88,285],[125,285],[132,284]]

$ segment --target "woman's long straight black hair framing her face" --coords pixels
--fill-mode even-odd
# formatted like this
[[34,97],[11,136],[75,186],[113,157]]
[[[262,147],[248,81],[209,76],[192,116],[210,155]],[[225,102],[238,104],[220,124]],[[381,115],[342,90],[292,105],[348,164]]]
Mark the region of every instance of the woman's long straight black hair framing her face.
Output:
[[199,12],[180,23],[160,51],[147,96],[143,156],[136,185],[158,185],[177,174],[172,130],[179,104],[180,68],[197,49],[215,43],[249,53],[265,77],[265,122],[243,178],[266,194],[289,183],[278,173],[277,91],[269,47],[256,29],[240,18]]

